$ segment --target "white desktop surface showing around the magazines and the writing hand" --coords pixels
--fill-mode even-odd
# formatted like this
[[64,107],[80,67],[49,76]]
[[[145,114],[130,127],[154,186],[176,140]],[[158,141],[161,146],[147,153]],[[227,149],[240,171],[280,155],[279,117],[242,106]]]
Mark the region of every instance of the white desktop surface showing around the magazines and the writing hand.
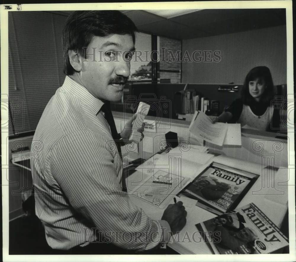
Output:
[[[219,161],[217,161],[218,159],[219,156],[214,157],[213,161],[219,163]],[[237,161],[237,164],[239,165],[240,160]],[[257,170],[258,174],[260,174],[262,171],[260,165],[256,165],[255,163],[252,164],[251,168],[253,168],[255,171]],[[245,195],[243,200],[239,203],[238,207],[253,202],[278,227],[280,227],[287,211],[288,187],[286,183],[283,182],[288,180],[288,172],[287,169],[279,169],[278,171],[274,172],[275,180],[273,182],[276,185],[275,187],[264,186],[264,180],[262,180],[263,176],[261,175],[261,177],[257,179],[255,184],[249,190],[247,195]],[[132,183],[133,181],[143,181],[145,178],[147,178],[147,175],[141,171],[136,171],[130,177],[128,177],[126,181],[128,193],[131,194],[133,188],[135,187]],[[132,195],[130,195],[130,197],[134,204],[141,207],[148,216],[154,219],[161,219],[164,209],[154,207]],[[177,238],[178,242],[175,241],[169,243],[169,247],[181,254],[212,254],[207,244],[202,241],[202,237],[195,224],[213,218],[216,215],[195,206],[196,200],[181,196],[181,201],[187,210],[187,223]],[[173,200],[171,203],[173,204]]]

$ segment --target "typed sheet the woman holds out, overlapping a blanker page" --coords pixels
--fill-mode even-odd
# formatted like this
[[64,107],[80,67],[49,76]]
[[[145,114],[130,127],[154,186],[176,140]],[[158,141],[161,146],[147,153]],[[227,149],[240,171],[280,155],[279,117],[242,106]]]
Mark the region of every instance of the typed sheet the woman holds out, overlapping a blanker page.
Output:
[[212,120],[205,113],[199,112],[189,131],[207,142],[222,146],[227,131],[227,124],[213,124]]

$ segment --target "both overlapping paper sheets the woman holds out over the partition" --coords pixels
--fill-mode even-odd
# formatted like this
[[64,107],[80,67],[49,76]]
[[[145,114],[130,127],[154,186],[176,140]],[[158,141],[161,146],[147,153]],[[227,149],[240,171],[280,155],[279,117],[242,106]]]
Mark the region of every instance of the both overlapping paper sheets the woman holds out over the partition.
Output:
[[242,145],[240,124],[213,123],[203,112],[196,111],[189,126],[189,131],[212,144]]

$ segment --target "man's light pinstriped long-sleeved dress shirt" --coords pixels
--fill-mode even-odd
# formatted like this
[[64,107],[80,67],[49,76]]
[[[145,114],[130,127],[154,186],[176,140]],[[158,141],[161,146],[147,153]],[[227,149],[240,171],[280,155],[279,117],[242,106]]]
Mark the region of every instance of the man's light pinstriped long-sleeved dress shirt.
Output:
[[87,245],[100,232],[125,249],[148,250],[168,241],[168,222],[149,218],[121,190],[122,162],[99,112],[103,104],[66,76],[36,128],[36,215],[54,249]]

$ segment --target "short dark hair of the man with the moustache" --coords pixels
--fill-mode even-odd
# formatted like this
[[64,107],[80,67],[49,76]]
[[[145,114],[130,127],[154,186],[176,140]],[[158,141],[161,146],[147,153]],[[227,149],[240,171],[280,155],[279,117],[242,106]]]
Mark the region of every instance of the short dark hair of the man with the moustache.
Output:
[[64,73],[73,75],[74,68],[70,64],[68,50],[84,54],[83,47],[89,46],[94,36],[113,34],[129,34],[135,43],[135,31],[138,31],[131,19],[119,11],[75,11],[66,21],[62,34],[64,52]]

